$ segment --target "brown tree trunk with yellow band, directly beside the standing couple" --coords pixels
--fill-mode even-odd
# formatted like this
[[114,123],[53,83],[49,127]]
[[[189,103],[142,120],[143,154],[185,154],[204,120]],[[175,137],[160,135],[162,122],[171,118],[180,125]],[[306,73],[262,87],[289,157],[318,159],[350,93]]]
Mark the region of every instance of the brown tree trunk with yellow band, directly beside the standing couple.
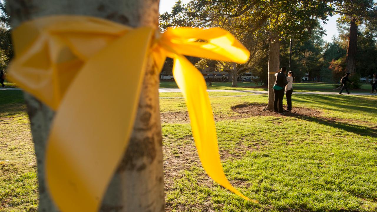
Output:
[[267,110],[274,109],[274,86],[276,72],[280,66],[280,41],[276,32],[270,32],[268,38],[268,104]]

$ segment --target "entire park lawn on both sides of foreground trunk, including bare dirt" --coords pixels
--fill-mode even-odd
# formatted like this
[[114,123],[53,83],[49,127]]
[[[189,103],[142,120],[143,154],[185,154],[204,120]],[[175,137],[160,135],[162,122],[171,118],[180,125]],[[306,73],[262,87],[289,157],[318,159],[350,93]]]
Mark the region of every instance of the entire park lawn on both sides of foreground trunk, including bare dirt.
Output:
[[[377,211],[377,97],[294,95],[293,115],[278,116],[258,115],[266,95],[219,93],[210,100],[225,174],[259,203],[204,173],[184,100],[161,99],[167,211]],[[36,211],[34,147],[20,91],[0,91],[0,136],[0,211]]]

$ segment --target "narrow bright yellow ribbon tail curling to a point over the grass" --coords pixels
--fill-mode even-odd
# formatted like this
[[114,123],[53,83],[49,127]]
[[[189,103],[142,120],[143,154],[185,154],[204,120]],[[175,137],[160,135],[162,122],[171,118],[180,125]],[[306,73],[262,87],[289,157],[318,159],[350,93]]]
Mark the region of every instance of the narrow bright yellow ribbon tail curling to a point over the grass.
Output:
[[229,183],[222,169],[215,121],[202,74],[185,57],[176,55],[173,75],[187,104],[192,134],[204,170],[217,183],[248,200]]

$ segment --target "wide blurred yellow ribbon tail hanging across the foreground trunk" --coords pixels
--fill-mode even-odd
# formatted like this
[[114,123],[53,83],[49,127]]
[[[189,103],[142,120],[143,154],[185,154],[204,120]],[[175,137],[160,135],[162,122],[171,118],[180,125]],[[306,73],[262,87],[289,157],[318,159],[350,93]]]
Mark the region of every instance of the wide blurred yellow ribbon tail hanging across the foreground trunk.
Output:
[[132,133],[152,34],[122,35],[89,58],[67,89],[46,150],[46,179],[61,211],[98,210]]

